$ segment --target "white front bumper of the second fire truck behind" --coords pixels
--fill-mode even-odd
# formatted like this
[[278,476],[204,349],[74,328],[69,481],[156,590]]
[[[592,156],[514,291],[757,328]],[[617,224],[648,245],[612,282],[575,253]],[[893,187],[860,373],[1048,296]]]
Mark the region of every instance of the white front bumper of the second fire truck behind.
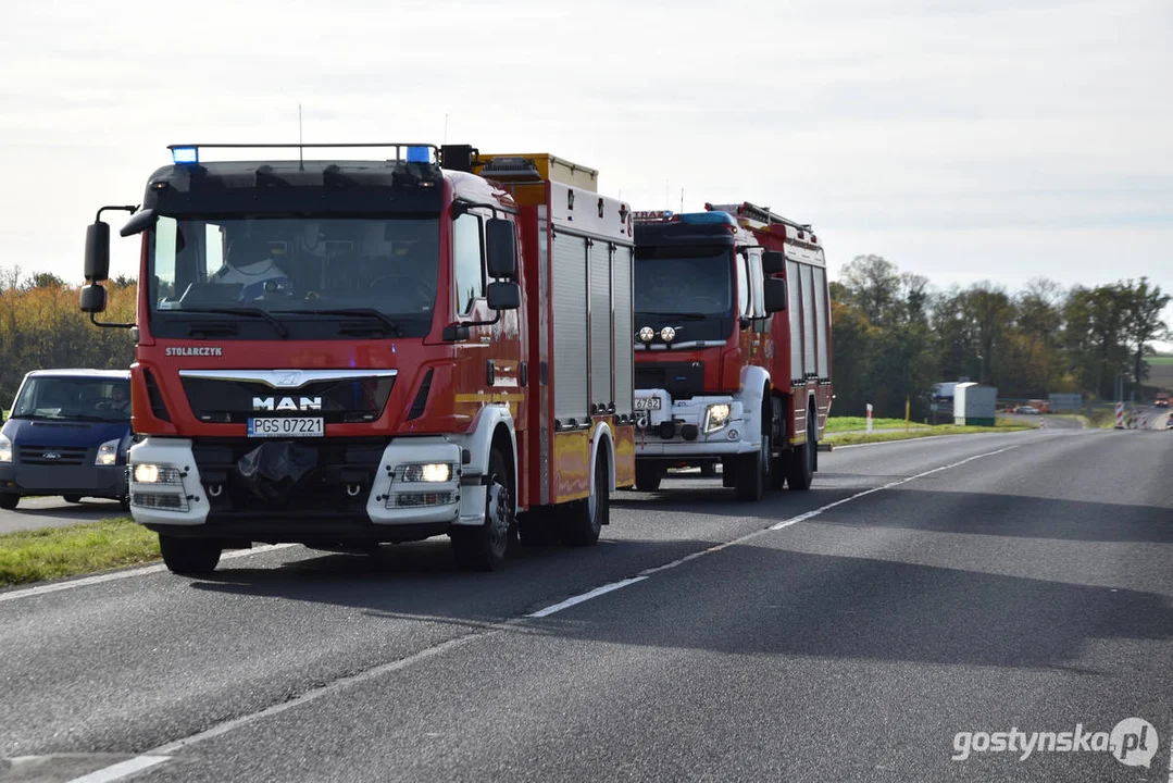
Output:
[[[649,409],[647,403],[640,400],[659,400],[659,407]],[[725,426],[705,432],[706,412],[712,405],[728,405],[728,419]],[[761,445],[760,434],[746,432],[743,405],[732,397],[673,401],[663,389],[640,389],[636,391],[636,410],[640,417],[636,428],[636,459],[719,458],[753,453]],[[687,437],[692,434],[694,437]]]

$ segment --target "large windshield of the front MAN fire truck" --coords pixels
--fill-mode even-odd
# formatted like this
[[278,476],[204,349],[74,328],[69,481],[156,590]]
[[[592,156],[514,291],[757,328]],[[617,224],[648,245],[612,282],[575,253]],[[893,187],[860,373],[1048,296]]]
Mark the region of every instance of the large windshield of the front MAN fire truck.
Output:
[[151,310],[374,309],[430,317],[438,218],[160,217]]

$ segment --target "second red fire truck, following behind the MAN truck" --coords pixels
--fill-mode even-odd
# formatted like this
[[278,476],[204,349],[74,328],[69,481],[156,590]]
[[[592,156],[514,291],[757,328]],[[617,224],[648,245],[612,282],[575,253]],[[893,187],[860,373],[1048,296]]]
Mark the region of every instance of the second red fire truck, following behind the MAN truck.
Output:
[[636,486],[720,460],[743,500],[807,490],[830,409],[826,261],[750,203],[637,212]]

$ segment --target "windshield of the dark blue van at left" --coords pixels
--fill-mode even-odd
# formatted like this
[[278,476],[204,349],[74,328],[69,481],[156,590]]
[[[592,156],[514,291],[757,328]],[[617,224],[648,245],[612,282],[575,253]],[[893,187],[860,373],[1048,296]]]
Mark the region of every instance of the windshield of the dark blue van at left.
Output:
[[130,420],[130,382],[121,378],[29,378],[12,409],[14,419]]

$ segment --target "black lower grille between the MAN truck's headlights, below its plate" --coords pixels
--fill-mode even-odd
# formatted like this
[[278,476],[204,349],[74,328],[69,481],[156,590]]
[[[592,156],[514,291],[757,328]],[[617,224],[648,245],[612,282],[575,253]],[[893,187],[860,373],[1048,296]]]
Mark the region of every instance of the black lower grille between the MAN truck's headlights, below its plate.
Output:
[[[297,463],[304,473],[297,480],[246,477],[246,458],[266,444],[285,450],[278,463]],[[297,517],[362,511],[386,445],[385,438],[201,438],[192,454],[212,513]]]

